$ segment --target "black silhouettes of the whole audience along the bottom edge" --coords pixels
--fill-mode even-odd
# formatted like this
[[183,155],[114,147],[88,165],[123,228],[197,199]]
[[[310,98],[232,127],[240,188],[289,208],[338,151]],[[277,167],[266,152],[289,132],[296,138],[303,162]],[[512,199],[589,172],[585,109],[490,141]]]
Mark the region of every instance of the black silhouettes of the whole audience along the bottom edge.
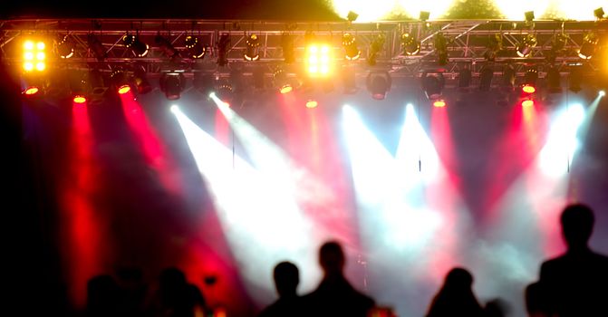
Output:
[[[560,218],[567,245],[564,255],[540,266],[538,281],[522,290],[529,317],[608,316],[608,257],[594,252],[589,239],[594,228],[590,207],[565,207]],[[299,295],[298,267],[284,261],[275,265],[278,298],[259,317],[344,316],[391,317],[372,297],[356,290],[344,275],[346,256],[336,241],[321,245],[318,254],[323,278],[311,293]],[[453,267],[429,301],[426,317],[502,317],[507,303],[500,299],[481,304],[473,292],[474,277],[464,267]],[[186,275],[176,267],[159,274],[158,287],[150,289],[137,268],[123,268],[117,278],[103,274],[87,285],[87,310],[92,317],[207,317],[212,307]]]

